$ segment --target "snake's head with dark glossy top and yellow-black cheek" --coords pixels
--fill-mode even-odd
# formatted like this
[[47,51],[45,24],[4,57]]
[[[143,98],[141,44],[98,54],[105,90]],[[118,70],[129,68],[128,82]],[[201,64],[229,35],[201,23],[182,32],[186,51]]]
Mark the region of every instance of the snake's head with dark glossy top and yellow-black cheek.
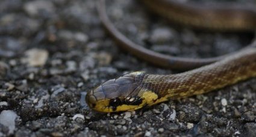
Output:
[[128,73],[117,79],[111,79],[91,90],[86,95],[86,102],[98,112],[133,111],[145,105],[138,96],[145,73]]

